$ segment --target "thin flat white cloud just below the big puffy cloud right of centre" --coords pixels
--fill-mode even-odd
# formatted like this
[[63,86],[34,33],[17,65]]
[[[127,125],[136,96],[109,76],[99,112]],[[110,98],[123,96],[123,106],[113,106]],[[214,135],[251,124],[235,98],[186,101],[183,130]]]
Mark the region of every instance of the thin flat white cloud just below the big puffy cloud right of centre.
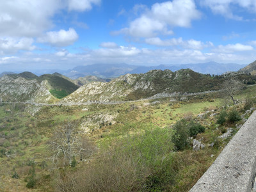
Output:
[[184,49],[204,49],[205,47],[212,47],[213,44],[211,42],[207,42],[207,44],[204,44],[201,41],[198,40],[183,40],[180,38],[171,38],[166,40],[161,40],[159,37],[152,37],[152,38],[146,38],[145,42],[150,45],[156,45],[156,46],[180,46]]

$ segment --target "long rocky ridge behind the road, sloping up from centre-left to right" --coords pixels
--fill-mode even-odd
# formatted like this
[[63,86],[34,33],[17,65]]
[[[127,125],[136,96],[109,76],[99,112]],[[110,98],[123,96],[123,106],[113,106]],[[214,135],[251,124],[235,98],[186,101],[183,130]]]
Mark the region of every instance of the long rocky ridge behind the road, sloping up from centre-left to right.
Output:
[[84,84],[60,102],[138,100],[148,97],[163,97],[164,95],[182,95],[184,93],[188,95],[189,93],[216,91],[220,89],[220,84],[223,81],[234,77],[246,84],[253,84],[256,79],[256,76],[243,73],[210,76],[189,69],[176,72],[151,70],[145,74],[126,74],[109,83]]

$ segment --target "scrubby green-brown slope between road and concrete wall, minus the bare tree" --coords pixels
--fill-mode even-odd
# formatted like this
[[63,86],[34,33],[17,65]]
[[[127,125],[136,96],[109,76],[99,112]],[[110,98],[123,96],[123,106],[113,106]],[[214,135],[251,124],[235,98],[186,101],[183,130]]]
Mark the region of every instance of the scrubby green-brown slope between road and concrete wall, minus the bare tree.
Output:
[[[0,188],[188,191],[243,124],[241,115],[255,105],[255,88],[236,95],[234,106],[214,93],[117,105],[1,104]],[[67,118],[79,122],[79,134],[95,148],[86,161],[76,156],[64,166],[60,156],[52,164],[47,143]],[[230,136],[219,138],[230,127]],[[194,139],[204,147],[193,150]]]

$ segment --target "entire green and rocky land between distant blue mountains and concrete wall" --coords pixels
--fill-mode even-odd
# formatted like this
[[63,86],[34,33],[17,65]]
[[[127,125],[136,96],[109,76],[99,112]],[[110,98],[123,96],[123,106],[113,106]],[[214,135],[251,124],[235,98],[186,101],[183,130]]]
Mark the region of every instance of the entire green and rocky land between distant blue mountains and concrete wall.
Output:
[[[231,79],[244,85],[236,104],[221,90]],[[188,191],[256,106],[253,73],[166,69],[108,81],[0,77],[0,189]],[[53,161],[50,143],[70,122],[83,148]]]

